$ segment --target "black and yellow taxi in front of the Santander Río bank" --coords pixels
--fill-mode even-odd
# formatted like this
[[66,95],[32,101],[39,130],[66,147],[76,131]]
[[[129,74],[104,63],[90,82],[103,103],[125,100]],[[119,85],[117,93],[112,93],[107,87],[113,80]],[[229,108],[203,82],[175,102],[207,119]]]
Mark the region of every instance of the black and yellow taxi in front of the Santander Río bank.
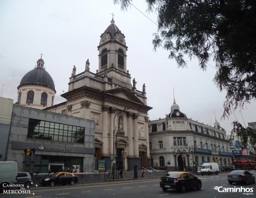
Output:
[[46,186],[46,185],[54,186],[55,184],[74,185],[77,182],[78,182],[78,176],[69,172],[56,172],[40,180],[40,184],[43,186]]

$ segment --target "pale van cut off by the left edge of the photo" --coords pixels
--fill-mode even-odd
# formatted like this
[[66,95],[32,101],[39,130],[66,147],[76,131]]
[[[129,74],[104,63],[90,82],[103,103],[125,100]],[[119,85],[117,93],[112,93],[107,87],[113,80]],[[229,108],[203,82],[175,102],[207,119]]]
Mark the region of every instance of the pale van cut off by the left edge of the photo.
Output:
[[0,162],[0,191],[17,181],[17,162]]

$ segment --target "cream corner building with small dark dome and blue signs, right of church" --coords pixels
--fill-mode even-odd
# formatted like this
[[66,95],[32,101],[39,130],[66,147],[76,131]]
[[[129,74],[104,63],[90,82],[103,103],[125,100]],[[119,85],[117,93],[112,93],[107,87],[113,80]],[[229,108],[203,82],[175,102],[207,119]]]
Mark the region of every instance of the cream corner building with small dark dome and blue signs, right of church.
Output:
[[148,126],[150,156],[156,168],[196,173],[205,162],[232,166],[230,140],[216,118],[213,126],[189,119],[174,99],[165,118],[151,120]]

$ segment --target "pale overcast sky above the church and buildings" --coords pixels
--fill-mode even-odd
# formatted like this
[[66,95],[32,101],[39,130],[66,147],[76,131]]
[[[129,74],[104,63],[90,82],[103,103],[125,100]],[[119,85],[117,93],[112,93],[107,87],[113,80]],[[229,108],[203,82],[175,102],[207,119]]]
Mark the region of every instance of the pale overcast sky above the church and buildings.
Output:
[[[153,22],[157,16],[146,13],[143,0],[133,2]],[[127,69],[137,81],[137,89],[146,85],[149,119],[165,118],[175,100],[188,118],[213,126],[217,121],[227,131],[231,122],[255,122],[256,102],[235,111],[229,119],[221,120],[225,92],[213,82],[214,62],[206,71],[199,69],[196,59],[187,59],[188,68],[177,68],[168,59],[168,51],[153,51],[153,33],[157,26],[131,6],[120,10],[112,0],[1,0],[0,1],[0,90],[2,97],[17,100],[17,86],[22,77],[32,70],[43,54],[46,71],[52,76],[60,103],[63,91],[68,90],[73,65],[77,74],[83,72],[86,60],[90,71],[98,69],[100,35],[110,25],[113,13],[115,24],[126,36]],[[214,113],[215,111],[215,113]]]

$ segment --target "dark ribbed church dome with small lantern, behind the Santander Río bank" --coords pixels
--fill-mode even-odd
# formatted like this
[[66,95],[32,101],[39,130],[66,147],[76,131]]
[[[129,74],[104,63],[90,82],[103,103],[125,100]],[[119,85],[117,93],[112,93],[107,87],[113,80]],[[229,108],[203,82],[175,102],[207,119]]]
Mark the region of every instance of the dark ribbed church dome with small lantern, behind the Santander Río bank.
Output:
[[27,72],[27,74],[22,78],[21,85],[42,85],[46,87],[51,87],[55,90],[55,85],[50,74],[44,69],[44,60],[40,58],[37,60],[37,66],[33,70]]

